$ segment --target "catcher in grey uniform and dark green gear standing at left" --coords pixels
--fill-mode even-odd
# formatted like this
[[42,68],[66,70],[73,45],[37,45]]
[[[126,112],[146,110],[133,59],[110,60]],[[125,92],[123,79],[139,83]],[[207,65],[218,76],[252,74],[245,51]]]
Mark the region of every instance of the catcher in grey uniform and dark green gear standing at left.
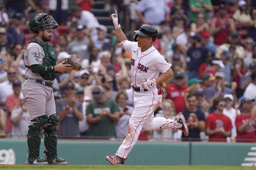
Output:
[[[26,164],[68,164],[57,156],[57,133],[60,117],[56,115],[54,94],[51,88],[56,72],[70,72],[69,64],[56,65],[56,51],[48,43],[58,24],[52,16],[40,13],[28,23],[36,38],[25,51],[26,80],[22,93],[30,114],[28,126],[28,155]],[[45,156],[39,157],[41,131],[44,129]]]

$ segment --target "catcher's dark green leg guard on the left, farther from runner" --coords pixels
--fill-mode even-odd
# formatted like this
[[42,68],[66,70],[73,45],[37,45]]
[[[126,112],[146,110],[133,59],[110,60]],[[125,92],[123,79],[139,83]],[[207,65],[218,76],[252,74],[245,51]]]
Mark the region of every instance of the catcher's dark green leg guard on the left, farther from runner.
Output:
[[33,119],[32,122],[36,122],[33,125],[28,126],[28,162],[33,163],[35,159],[37,162],[44,162],[45,159],[39,158],[41,134],[43,126],[47,123],[47,116],[39,116]]

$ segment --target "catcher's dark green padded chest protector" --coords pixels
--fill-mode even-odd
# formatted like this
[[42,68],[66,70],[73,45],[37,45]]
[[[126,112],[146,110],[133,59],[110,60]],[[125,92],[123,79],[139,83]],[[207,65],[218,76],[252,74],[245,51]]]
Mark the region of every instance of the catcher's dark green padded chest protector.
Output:
[[[52,47],[51,43],[46,42],[46,44],[42,43],[38,39],[34,38],[29,43],[38,43],[43,49],[44,49],[44,58],[43,58],[43,65],[45,66],[55,66],[57,62],[57,56],[56,51],[54,50],[54,47]],[[55,72],[49,72],[46,74],[40,74],[44,80],[54,80],[56,73]]]

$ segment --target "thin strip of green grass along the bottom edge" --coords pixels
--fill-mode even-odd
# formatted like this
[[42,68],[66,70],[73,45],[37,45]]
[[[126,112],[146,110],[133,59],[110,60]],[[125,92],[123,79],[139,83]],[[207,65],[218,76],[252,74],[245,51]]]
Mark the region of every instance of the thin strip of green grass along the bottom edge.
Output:
[[112,165],[0,165],[1,170],[252,170],[255,167],[220,165],[112,166]]

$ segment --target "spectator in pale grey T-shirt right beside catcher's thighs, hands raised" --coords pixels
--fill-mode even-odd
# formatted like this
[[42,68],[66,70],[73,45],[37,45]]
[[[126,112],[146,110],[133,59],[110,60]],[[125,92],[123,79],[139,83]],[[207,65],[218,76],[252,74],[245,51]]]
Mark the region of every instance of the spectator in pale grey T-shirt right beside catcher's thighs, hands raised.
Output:
[[11,121],[13,123],[11,136],[14,138],[25,138],[28,134],[30,116],[23,95],[20,95],[20,106],[12,110]]

